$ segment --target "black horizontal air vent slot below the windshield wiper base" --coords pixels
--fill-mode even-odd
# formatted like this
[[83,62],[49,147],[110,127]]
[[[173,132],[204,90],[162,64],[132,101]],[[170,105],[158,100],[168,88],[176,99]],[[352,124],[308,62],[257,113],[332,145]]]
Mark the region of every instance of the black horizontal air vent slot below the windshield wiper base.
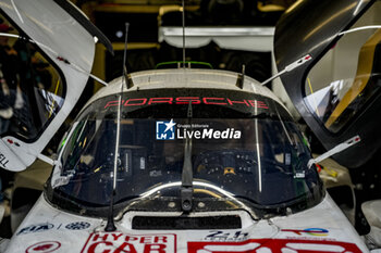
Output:
[[209,217],[152,217],[135,216],[133,229],[237,229],[242,228],[237,215]]

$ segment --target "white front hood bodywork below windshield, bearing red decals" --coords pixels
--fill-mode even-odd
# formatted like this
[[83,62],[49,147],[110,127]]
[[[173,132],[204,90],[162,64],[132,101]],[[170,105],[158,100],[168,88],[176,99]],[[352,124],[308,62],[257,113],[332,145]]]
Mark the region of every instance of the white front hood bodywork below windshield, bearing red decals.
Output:
[[116,231],[105,232],[106,220],[63,213],[41,197],[5,252],[368,252],[329,195],[310,210],[259,222],[244,211],[198,215],[226,213],[241,216],[241,229],[136,230],[131,222],[142,213],[130,212]]

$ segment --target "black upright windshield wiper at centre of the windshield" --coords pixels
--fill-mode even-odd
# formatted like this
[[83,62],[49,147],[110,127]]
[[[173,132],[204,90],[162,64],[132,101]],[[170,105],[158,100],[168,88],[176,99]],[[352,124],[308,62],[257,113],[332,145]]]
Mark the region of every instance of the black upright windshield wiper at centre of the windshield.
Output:
[[[193,117],[192,101],[188,104],[188,123]],[[192,138],[186,137],[184,147],[184,164],[182,170],[182,185],[181,185],[181,206],[184,212],[192,211],[193,199],[193,165],[192,165]]]

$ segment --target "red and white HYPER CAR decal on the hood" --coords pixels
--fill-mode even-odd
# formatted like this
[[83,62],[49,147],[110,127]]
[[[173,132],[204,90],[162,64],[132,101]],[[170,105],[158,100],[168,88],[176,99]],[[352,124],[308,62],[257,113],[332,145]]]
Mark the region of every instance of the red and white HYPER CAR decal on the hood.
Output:
[[91,233],[81,253],[173,253],[175,235],[126,235],[122,232]]

